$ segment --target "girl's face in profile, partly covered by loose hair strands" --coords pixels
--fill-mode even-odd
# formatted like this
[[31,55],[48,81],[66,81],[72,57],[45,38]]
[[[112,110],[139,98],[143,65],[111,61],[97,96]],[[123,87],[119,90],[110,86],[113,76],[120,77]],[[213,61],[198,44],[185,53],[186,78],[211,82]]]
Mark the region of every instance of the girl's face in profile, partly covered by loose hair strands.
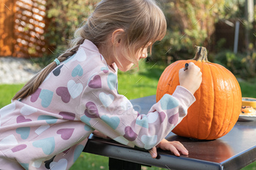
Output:
[[[124,55],[121,53],[121,47],[116,49],[116,55],[118,55],[120,62],[115,61],[115,63],[118,69],[121,70],[121,72],[127,72],[134,65],[134,63],[129,61],[127,58],[125,58]],[[135,54],[135,58],[137,59],[137,61],[140,61],[141,58],[147,58],[147,57],[148,57],[148,47],[141,48],[140,50],[138,50],[138,53]]]

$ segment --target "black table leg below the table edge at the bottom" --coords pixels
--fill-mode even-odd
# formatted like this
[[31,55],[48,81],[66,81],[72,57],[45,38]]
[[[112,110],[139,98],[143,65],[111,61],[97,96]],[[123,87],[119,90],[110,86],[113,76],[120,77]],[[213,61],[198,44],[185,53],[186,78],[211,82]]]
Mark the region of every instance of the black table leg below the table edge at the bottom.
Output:
[[140,163],[133,163],[129,161],[122,161],[115,158],[108,159],[109,170],[141,170]]

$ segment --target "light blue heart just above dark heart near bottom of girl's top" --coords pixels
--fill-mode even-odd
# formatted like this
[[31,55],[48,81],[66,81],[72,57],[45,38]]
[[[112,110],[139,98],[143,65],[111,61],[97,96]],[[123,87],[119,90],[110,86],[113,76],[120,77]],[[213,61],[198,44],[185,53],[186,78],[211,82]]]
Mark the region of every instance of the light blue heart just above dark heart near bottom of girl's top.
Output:
[[54,137],[41,139],[38,141],[33,142],[34,147],[39,147],[42,149],[42,152],[45,155],[50,155],[55,149],[55,140]]

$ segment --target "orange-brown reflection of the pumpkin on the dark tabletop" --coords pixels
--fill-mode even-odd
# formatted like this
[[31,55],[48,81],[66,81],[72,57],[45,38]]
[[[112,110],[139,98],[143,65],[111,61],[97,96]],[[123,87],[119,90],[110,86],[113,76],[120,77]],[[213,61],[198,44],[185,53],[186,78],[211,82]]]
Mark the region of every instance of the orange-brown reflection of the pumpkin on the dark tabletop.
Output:
[[169,136],[166,139],[181,142],[189,151],[189,155],[184,155],[188,158],[221,163],[234,155],[232,147],[222,139],[200,140],[177,135]]

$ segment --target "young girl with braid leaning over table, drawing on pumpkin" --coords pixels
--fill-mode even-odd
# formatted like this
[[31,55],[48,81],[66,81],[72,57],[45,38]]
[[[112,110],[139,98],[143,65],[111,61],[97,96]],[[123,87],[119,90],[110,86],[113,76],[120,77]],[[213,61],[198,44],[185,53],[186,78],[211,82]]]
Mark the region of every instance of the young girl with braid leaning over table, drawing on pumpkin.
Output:
[[187,155],[181,143],[165,136],[195,101],[197,66],[181,69],[180,86],[146,115],[117,91],[117,70],[138,66],[165,32],[165,16],[154,0],[102,0],[71,48],[0,110],[0,169],[69,169],[94,130],[130,147],[153,148],[153,158],[155,146]]

